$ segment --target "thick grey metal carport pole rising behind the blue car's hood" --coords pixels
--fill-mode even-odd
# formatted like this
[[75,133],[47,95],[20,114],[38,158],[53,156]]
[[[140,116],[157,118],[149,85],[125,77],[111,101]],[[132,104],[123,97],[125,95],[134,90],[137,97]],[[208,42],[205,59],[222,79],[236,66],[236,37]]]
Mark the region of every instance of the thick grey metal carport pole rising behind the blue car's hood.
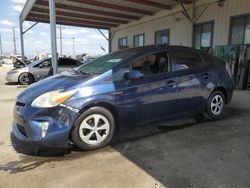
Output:
[[57,73],[57,44],[56,44],[56,5],[55,0],[49,0],[50,36],[53,74]]

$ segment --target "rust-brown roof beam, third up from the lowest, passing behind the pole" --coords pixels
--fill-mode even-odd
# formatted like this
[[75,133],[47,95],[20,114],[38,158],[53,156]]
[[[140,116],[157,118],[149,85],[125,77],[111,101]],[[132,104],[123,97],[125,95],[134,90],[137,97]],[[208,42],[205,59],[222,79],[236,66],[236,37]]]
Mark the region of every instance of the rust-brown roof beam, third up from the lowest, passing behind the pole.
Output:
[[[44,8],[33,7],[30,13],[45,13],[45,14],[49,15],[49,10],[44,9]],[[69,17],[69,18],[82,18],[82,19],[87,19],[87,20],[113,22],[113,23],[118,23],[118,24],[128,23],[128,21],[121,20],[121,19],[90,16],[90,15],[84,15],[84,14],[75,13],[75,12],[64,12],[64,11],[60,11],[60,10],[56,10],[56,15],[65,16],[65,17]]]

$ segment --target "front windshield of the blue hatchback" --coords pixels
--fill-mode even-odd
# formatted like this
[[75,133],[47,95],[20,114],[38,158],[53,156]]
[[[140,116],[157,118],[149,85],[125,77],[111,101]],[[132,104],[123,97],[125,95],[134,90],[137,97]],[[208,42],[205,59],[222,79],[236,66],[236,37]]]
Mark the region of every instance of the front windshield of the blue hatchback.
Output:
[[116,65],[123,62],[128,57],[136,54],[136,51],[119,51],[99,57],[88,64],[82,65],[75,69],[79,73],[102,74]]

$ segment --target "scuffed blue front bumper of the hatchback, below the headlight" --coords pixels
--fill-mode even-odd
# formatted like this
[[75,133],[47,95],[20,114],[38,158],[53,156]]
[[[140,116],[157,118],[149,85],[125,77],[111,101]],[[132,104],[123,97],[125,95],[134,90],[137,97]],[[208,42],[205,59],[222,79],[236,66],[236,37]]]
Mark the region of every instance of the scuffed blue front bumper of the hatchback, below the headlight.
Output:
[[[68,148],[69,135],[78,114],[65,107],[49,109],[34,108],[18,103],[14,108],[11,141],[18,151],[18,145],[32,148]],[[41,134],[40,122],[48,122],[46,135]]]

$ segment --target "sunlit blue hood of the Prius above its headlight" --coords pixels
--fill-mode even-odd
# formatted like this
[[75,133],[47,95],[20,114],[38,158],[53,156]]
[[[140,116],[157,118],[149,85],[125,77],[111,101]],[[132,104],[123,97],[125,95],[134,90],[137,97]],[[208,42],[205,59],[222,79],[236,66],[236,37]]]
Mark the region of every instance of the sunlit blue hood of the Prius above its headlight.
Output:
[[20,93],[17,97],[17,101],[31,104],[31,102],[43,93],[55,91],[55,90],[71,90],[80,85],[87,85],[87,81],[94,78],[90,74],[73,74],[64,72],[41,80],[35,84],[30,85],[26,90]]

